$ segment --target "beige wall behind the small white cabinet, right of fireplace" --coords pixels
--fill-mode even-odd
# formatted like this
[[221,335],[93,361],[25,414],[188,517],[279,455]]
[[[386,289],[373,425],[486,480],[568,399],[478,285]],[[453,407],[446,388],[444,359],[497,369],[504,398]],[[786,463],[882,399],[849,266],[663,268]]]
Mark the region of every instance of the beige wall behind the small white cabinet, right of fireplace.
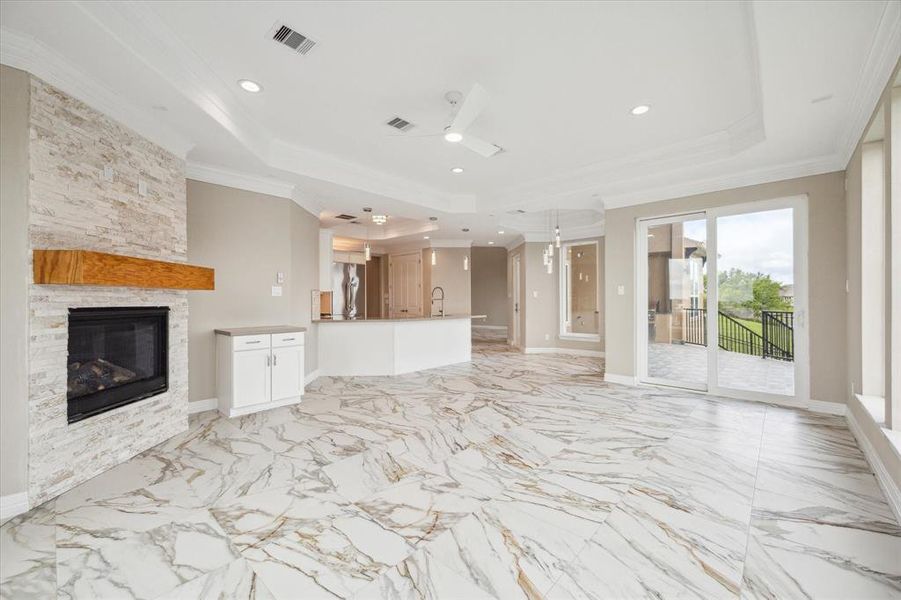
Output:
[[[310,324],[319,221],[291,200],[188,180],[188,261],[216,269],[216,290],[189,296],[190,399],[216,396],[218,327]],[[282,296],[272,296],[278,272]],[[316,332],[305,370],[317,367]]]

